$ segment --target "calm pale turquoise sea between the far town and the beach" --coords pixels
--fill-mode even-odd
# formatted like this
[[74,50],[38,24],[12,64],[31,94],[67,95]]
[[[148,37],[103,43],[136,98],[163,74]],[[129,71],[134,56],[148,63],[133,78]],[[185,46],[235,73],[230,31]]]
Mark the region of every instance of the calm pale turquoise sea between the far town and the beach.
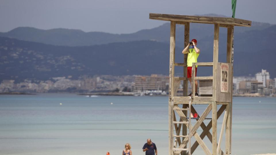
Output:
[[[201,115],[206,105],[195,108]],[[233,155],[276,153],[276,98],[234,97],[232,132]],[[147,138],[168,154],[168,97],[0,95],[1,155],[120,155],[126,143],[144,155]]]

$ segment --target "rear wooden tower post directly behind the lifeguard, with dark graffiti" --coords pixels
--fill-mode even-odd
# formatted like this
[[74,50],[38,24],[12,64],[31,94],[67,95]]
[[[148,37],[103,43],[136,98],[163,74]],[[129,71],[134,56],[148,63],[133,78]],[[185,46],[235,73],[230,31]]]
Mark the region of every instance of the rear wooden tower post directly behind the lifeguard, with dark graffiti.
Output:
[[[190,23],[188,22],[185,24],[185,31],[184,31],[184,48],[189,44],[189,36],[190,36]],[[187,77],[187,57],[188,54],[184,54],[184,70],[183,70],[183,77]],[[183,96],[187,96],[188,91],[188,80],[183,81]],[[182,108],[187,108],[187,104],[183,104]],[[184,115],[187,116],[187,111],[183,111]],[[182,124],[182,135],[187,135],[187,126],[185,124]],[[185,139],[185,137],[182,137],[182,141]],[[187,148],[185,146],[184,148]],[[181,155],[186,155],[187,151],[182,151]]]

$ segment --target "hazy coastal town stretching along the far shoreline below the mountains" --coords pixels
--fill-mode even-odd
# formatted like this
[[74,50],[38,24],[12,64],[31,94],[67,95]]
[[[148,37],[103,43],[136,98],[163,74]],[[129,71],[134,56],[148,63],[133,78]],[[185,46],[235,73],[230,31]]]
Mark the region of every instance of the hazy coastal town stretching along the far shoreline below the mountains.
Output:
[[[257,82],[258,83],[257,83]],[[168,77],[153,74],[151,76],[142,75],[96,75],[89,77],[80,76],[77,79],[68,77],[53,77],[49,80],[3,80],[0,83],[1,92],[112,92],[116,89],[122,91],[127,89],[131,92],[144,92],[146,90],[168,92]],[[233,94],[258,93],[262,96],[275,96],[276,78],[259,82],[255,77],[242,76],[233,78]],[[200,88],[199,88],[200,90]],[[188,92],[191,86],[188,85]],[[183,95],[183,81],[180,82],[177,96]]]

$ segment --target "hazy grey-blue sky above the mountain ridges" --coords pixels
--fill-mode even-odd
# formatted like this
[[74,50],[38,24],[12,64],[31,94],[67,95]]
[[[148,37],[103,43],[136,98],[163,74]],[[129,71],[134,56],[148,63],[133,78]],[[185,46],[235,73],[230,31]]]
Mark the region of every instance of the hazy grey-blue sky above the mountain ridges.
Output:
[[[276,0],[237,0],[235,18],[276,24]],[[231,0],[0,0],[0,32],[19,26],[133,33],[160,26],[149,13],[232,15]]]

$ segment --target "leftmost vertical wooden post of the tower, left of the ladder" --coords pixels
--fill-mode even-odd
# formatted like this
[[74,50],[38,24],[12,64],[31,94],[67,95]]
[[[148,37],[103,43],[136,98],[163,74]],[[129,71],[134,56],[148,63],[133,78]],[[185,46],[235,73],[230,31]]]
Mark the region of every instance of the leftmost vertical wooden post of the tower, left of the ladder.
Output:
[[173,96],[175,74],[175,22],[170,22],[169,155],[173,155]]

